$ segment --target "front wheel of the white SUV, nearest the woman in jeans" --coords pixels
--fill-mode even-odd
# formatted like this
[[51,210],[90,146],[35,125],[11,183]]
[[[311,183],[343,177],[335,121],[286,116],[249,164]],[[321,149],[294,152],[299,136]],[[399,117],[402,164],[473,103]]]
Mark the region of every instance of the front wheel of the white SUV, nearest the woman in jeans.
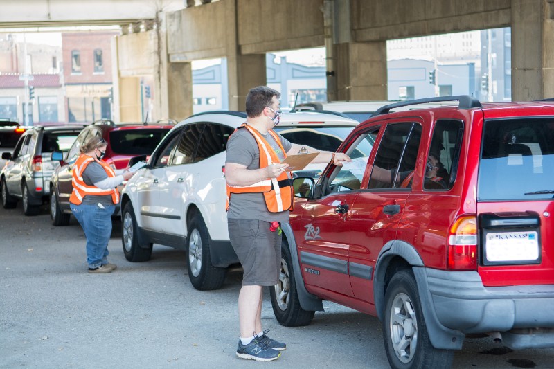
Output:
[[152,243],[141,247],[139,244],[139,226],[136,225],[136,217],[131,202],[125,204],[121,215],[121,243],[125,259],[129,262],[145,262],[152,256]]

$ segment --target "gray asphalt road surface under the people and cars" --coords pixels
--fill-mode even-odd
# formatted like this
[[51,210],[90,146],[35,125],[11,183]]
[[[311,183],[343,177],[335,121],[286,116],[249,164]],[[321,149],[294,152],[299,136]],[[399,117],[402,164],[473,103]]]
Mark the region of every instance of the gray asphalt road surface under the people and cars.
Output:
[[[72,218],[54,227],[44,207],[24,217],[0,206],[0,368],[388,368],[378,319],[326,302],[307,327],[282,327],[265,294],[262,321],[288,345],[277,361],[235,356],[241,272],[223,288],[197,291],[184,252],[154,245],[131,263],[114,223],[110,261],[87,273],[84,234]],[[466,339],[453,368],[553,368],[554,349],[511,352]]]

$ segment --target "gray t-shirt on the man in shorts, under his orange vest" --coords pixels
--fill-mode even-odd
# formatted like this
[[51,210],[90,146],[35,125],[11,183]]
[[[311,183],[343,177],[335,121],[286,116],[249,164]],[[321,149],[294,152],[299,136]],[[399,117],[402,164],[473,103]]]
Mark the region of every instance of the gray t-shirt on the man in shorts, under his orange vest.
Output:
[[[281,145],[285,152],[292,147],[287,138],[277,134],[280,138]],[[275,150],[280,160],[285,159],[285,154],[281,152],[279,145],[274,140],[273,136],[267,134],[265,140]],[[238,129],[233,133],[227,142],[227,157],[226,163],[235,163],[246,165],[247,169],[260,169],[260,150],[256,138],[246,129]],[[289,222],[289,210],[280,213],[271,213],[267,210],[264,195],[262,193],[233,193],[231,194],[231,202],[229,211],[227,212],[229,219],[260,219],[266,222]]]

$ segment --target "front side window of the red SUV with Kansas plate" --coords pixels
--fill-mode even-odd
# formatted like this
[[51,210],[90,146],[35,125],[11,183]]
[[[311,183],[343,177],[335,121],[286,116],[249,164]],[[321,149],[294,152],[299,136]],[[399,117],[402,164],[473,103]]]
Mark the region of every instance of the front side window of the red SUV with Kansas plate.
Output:
[[355,138],[355,141],[346,151],[352,162],[343,163],[343,166],[335,168],[329,192],[343,192],[361,188],[361,181],[364,178],[368,159],[378,133],[379,129],[374,129]]

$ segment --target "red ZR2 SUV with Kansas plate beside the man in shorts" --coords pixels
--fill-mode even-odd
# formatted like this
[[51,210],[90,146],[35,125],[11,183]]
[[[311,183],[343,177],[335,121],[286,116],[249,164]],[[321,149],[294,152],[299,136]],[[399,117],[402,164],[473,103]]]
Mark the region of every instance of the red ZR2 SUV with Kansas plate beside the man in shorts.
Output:
[[378,316],[393,368],[448,367],[466,334],[554,347],[554,102],[386,105],[339,152],[352,163],[294,179],[282,325],[321,300]]

